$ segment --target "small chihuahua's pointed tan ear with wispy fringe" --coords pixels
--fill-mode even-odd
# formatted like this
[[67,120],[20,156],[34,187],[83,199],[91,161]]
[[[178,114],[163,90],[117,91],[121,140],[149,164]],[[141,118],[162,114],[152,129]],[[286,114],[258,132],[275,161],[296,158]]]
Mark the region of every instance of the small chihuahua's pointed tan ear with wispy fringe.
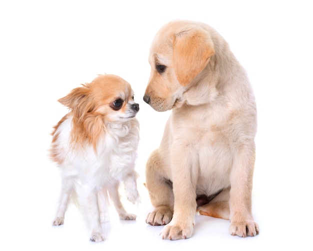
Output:
[[57,101],[70,108],[78,118],[92,110],[92,102],[89,102],[89,88],[84,84],[82,87],[73,89],[65,97],[60,98]]

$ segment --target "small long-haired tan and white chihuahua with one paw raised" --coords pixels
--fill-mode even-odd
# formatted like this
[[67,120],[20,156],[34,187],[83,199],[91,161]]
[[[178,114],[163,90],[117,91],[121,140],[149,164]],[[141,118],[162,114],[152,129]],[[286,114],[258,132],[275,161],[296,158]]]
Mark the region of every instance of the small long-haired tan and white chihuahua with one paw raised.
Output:
[[134,169],[139,105],[129,83],[115,75],[99,75],[58,101],[69,112],[51,133],[50,157],[61,171],[52,225],[63,224],[67,205],[74,199],[89,225],[90,240],[103,241],[101,216],[105,215],[108,196],[120,219],[136,218],[122,206],[118,188],[123,182],[129,201],[139,201]]

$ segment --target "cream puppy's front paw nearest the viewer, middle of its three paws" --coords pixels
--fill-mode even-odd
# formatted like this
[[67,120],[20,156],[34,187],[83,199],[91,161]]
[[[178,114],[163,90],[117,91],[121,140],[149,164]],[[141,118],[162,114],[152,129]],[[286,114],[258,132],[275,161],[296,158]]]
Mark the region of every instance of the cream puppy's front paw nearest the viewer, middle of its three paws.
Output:
[[162,239],[170,239],[170,240],[176,240],[176,239],[186,239],[191,237],[193,231],[193,225],[187,224],[185,226],[180,224],[171,224],[164,226],[162,231],[160,232],[160,235]]

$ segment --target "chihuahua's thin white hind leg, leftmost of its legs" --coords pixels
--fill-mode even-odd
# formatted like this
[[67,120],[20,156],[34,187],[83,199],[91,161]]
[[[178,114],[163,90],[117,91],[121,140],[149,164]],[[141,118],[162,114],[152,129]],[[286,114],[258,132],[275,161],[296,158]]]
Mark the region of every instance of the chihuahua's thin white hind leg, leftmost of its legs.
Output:
[[57,205],[56,214],[54,220],[52,221],[52,225],[57,226],[64,223],[64,214],[67,209],[70,197],[74,192],[74,185],[71,182],[71,179],[63,178],[61,181],[61,190]]

